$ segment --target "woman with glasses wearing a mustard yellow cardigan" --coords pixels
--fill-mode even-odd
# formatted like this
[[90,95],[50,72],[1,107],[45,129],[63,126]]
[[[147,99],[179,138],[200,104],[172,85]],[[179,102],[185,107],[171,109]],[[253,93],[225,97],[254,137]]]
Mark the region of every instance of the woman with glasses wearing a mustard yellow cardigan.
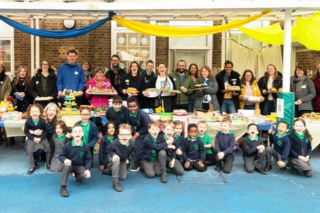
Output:
[[[263,101],[257,82],[254,78],[253,72],[249,69],[244,70],[240,79],[241,94],[239,95],[240,109],[255,110],[259,109],[259,102]],[[244,96],[254,96],[251,101],[256,103],[245,103]],[[258,100],[260,98],[260,100]]]

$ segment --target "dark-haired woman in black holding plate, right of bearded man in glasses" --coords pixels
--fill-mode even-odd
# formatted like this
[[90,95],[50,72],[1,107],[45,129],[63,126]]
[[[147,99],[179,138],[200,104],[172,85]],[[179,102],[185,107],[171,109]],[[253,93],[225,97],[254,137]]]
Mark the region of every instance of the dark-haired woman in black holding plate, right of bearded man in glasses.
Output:
[[[126,100],[129,96],[136,96],[138,99],[138,105],[140,107],[143,106],[143,103],[139,100],[142,95],[142,91],[145,88],[144,80],[140,76],[140,66],[138,62],[132,61],[130,64],[130,71],[128,74],[124,75],[121,79],[119,91],[122,93],[120,94],[122,97],[122,100]],[[132,87],[135,88],[138,92],[137,93],[129,93],[126,92],[126,89]]]

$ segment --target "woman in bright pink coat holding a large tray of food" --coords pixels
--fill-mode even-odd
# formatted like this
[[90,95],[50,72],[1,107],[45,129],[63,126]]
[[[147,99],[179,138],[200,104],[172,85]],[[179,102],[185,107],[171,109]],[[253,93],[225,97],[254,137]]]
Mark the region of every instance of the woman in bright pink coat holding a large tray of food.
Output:
[[95,75],[88,80],[86,87],[85,97],[90,100],[90,104],[95,108],[105,106],[110,98],[117,95],[116,90],[111,85],[110,79],[104,76],[104,68],[101,66],[95,69]]

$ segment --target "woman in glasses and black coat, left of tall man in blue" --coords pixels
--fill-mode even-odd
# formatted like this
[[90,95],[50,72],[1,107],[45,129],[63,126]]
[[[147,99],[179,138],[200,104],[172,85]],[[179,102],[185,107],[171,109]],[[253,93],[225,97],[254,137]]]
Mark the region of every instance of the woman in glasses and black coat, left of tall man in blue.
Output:
[[[30,82],[30,93],[43,108],[50,102],[58,105],[55,68],[48,60],[42,60]],[[40,99],[42,98],[42,99]]]

